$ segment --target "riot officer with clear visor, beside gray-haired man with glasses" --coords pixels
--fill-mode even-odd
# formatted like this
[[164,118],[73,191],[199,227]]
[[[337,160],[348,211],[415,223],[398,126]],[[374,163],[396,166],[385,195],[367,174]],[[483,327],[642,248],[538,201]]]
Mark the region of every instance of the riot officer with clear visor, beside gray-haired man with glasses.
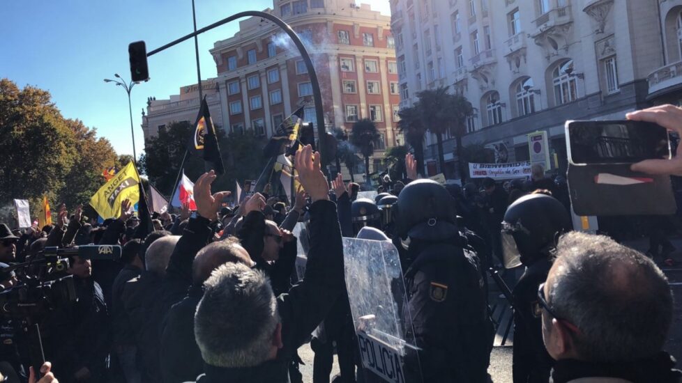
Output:
[[507,208],[502,222],[505,267],[526,270],[513,290],[514,383],[548,382],[554,362],[543,345],[540,313],[534,312],[538,286],[547,279],[561,233],[570,230],[566,208],[551,196],[529,194]]

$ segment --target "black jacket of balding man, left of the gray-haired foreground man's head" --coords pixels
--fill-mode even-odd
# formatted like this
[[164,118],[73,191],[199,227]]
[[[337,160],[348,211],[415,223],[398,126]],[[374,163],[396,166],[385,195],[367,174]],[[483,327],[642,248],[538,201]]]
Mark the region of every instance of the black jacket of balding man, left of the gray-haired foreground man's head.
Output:
[[192,286],[185,299],[166,315],[161,334],[161,376],[164,383],[181,383],[204,372],[204,360],[194,336],[194,314],[204,296],[201,286]]

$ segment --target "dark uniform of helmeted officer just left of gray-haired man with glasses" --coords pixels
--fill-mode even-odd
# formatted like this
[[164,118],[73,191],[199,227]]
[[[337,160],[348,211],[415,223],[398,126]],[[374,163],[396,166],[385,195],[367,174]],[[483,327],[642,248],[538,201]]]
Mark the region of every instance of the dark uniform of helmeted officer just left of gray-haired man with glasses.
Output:
[[526,268],[514,286],[514,383],[549,382],[554,360],[543,343],[542,318],[533,316],[538,286],[545,282],[552,263],[540,259]]

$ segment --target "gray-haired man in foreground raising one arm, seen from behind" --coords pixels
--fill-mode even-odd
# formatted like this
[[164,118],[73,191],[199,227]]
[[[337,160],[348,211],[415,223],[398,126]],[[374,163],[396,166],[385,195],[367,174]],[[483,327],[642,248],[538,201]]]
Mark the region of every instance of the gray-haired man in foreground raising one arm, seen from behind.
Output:
[[289,382],[291,357],[344,290],[341,230],[319,153],[305,146],[295,162],[312,199],[305,276],[275,299],[262,272],[236,263],[218,267],[195,315],[206,371],[197,382]]

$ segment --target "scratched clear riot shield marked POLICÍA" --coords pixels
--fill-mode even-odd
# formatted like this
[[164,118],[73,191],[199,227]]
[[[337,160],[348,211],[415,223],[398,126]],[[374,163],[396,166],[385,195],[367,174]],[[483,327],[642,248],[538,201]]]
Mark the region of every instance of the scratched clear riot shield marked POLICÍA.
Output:
[[363,366],[386,382],[422,382],[397,249],[387,241],[345,237],[343,248]]

